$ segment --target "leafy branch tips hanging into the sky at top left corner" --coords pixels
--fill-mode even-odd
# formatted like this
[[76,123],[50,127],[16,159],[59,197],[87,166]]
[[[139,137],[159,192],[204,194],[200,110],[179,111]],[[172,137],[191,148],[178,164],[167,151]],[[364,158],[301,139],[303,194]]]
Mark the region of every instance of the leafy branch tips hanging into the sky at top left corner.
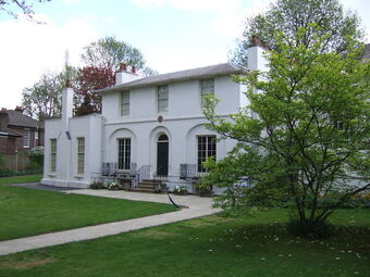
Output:
[[21,11],[28,20],[34,18],[34,10],[33,10],[33,3],[32,2],[50,2],[51,0],[35,0],[35,1],[28,1],[28,0],[1,0],[0,1],[0,12],[5,12],[13,16],[14,18],[17,18],[17,11]]

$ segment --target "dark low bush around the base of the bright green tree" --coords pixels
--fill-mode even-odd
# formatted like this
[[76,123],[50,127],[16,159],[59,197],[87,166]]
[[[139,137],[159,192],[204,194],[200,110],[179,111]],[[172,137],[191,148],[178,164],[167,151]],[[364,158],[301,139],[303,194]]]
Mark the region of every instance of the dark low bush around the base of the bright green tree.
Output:
[[307,239],[326,239],[333,234],[334,226],[323,221],[312,222],[292,218],[287,224],[287,230],[293,236]]

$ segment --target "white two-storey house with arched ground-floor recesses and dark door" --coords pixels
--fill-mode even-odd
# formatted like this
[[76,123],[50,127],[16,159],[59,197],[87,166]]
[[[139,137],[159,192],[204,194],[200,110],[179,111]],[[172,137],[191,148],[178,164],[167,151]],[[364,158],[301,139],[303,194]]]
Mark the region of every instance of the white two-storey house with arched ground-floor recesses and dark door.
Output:
[[[249,48],[247,70],[231,63],[140,78],[122,64],[116,84],[98,91],[102,113],[72,117],[71,88],[63,91],[62,118],[45,125],[42,184],[86,188],[97,177],[135,176],[134,186],[161,176],[169,187],[190,189],[207,156],[224,158],[232,140],[215,142],[205,127],[203,97],[213,93],[217,113],[227,116],[248,104],[234,74],[263,70],[263,49]],[[136,178],[137,177],[137,178]]]

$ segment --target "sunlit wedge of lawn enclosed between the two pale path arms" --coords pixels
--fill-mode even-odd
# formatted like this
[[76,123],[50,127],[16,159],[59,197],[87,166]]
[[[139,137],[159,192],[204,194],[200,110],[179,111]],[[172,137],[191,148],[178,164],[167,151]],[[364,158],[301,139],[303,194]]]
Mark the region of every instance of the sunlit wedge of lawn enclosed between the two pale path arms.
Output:
[[40,175],[0,178],[0,240],[173,212],[172,205],[13,187]]

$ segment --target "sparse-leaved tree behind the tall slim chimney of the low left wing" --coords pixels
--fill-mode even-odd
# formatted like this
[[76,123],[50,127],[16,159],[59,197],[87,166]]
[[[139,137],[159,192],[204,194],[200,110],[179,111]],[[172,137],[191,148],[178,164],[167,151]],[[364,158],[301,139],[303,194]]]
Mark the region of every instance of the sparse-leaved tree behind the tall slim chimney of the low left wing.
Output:
[[[77,71],[74,67],[66,67],[62,73],[46,73],[40,79],[22,92],[22,105],[25,113],[38,121],[59,117],[61,115],[62,91],[65,87],[66,78],[72,79],[76,86]],[[67,77],[69,76],[69,77]]]

